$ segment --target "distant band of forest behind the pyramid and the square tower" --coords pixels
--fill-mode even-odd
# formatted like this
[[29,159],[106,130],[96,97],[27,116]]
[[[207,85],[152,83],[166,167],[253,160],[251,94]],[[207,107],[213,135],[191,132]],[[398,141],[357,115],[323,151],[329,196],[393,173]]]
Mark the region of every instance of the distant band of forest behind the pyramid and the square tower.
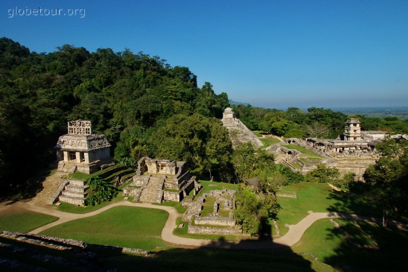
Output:
[[263,131],[286,138],[335,139],[344,132],[344,123],[350,117],[360,119],[362,130],[408,133],[408,120],[401,120],[395,116],[388,116],[384,119],[362,115],[348,116],[341,112],[316,107],[309,108],[307,112],[294,107],[286,111],[257,108],[251,105],[233,105],[232,108],[236,116],[250,130]]

